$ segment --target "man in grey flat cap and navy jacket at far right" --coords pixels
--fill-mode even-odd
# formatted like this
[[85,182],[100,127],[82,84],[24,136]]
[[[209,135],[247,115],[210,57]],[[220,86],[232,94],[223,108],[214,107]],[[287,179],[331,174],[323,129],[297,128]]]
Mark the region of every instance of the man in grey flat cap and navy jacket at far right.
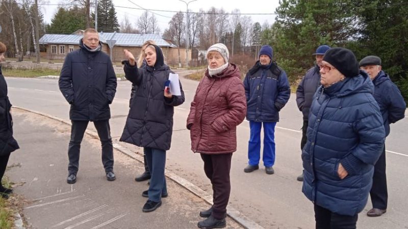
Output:
[[[374,98],[381,110],[386,136],[390,133],[390,124],[404,118],[405,101],[397,86],[391,81],[387,73],[381,70],[381,59],[369,55],[360,61],[360,68],[368,73],[374,84]],[[386,149],[374,165],[373,186],[370,190],[373,208],[367,212],[368,216],[381,216],[387,212],[388,191],[386,177]]]

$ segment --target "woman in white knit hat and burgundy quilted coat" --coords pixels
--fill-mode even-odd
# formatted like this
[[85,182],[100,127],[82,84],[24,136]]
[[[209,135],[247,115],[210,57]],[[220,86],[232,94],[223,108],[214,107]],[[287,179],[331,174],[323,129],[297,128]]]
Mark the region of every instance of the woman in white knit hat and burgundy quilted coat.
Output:
[[231,158],[237,150],[236,127],[246,114],[241,73],[235,64],[228,63],[229,55],[221,43],[207,50],[208,69],[198,84],[187,119],[191,150],[201,154],[213,186],[213,206],[200,212],[207,219],[198,222],[199,228],[226,226]]

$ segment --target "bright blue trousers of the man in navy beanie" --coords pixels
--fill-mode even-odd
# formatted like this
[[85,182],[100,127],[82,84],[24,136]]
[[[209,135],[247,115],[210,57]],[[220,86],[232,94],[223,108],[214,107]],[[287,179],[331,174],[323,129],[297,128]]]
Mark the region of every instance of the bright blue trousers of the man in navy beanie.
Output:
[[258,165],[261,155],[261,127],[264,125],[264,153],[262,160],[265,167],[275,164],[275,126],[276,122],[249,121],[250,137],[248,143],[249,165]]

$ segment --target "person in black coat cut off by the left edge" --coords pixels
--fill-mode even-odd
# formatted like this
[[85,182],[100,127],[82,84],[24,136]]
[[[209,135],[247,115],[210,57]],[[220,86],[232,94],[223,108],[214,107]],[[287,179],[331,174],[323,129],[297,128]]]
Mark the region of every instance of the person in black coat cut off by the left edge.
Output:
[[[5,60],[6,45],[0,42],[0,62]],[[13,138],[13,120],[10,113],[11,103],[7,97],[7,83],[0,67],[0,196],[8,198],[13,190],[3,187],[2,179],[6,171],[11,152],[19,149]]]

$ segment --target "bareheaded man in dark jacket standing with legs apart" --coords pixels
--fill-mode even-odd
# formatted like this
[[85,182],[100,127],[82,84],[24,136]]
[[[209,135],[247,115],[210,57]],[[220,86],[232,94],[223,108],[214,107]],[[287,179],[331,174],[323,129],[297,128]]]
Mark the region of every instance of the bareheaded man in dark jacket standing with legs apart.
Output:
[[77,182],[81,141],[91,121],[102,145],[102,162],[108,181],[116,179],[113,172],[113,146],[110,134],[109,104],[116,93],[116,75],[109,56],[101,51],[99,35],[93,28],[84,32],[80,49],[70,52],[61,70],[59,87],[71,104],[72,123],[68,146],[67,183]]

